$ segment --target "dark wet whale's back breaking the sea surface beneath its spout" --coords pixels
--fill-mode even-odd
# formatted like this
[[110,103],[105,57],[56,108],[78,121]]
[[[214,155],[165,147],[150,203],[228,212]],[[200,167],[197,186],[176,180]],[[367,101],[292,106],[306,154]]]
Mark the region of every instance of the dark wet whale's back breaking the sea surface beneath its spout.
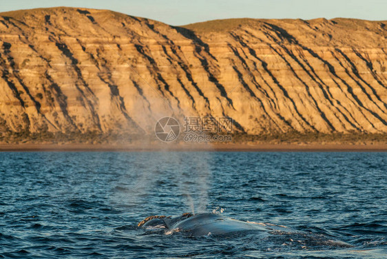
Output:
[[[138,227],[147,231],[162,231],[164,234],[179,232],[187,236],[231,236],[237,234],[254,234],[255,236],[284,236],[293,240],[303,238],[311,245],[329,247],[353,247],[346,242],[333,240],[329,237],[291,229],[282,225],[265,222],[242,221],[221,214],[185,213],[181,216],[149,216],[138,223]],[[293,239],[292,239],[293,238]]]

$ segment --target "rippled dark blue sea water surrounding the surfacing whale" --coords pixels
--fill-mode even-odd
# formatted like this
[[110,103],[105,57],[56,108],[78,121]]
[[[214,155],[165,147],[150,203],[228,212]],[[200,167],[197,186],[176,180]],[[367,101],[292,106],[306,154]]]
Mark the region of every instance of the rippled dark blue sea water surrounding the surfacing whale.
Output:
[[[386,173],[377,152],[2,152],[0,258],[387,258]],[[314,238],[137,227],[205,211]]]

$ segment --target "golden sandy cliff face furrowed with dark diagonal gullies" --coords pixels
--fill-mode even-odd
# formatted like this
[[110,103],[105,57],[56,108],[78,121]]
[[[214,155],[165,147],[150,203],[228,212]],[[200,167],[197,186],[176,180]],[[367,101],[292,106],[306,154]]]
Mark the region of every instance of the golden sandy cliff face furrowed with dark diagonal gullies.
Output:
[[387,22],[0,14],[0,132],[153,132],[230,116],[247,134],[387,132]]

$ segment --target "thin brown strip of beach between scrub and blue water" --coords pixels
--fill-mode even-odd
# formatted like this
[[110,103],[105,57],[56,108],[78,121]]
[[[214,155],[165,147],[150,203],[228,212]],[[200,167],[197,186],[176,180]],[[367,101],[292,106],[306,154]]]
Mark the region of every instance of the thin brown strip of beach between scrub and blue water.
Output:
[[[163,144],[163,143],[161,143]],[[1,144],[0,152],[387,152],[386,144]]]

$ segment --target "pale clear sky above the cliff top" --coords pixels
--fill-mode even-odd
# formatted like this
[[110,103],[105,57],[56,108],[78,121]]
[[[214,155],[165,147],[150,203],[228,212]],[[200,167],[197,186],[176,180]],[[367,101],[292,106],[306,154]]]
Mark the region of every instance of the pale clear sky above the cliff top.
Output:
[[0,0],[0,12],[54,6],[109,9],[170,25],[244,17],[387,20],[387,0]]

